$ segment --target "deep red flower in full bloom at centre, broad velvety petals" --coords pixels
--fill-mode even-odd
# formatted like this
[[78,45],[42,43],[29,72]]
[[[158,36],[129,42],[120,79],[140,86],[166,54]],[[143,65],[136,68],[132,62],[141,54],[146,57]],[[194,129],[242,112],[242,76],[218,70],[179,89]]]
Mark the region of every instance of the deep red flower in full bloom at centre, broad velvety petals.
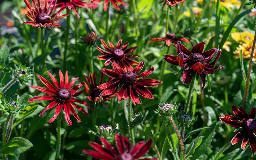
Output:
[[138,64],[133,70],[130,68],[124,70],[115,61],[112,62],[112,66],[114,71],[102,68],[102,72],[113,79],[98,86],[100,91],[103,90],[100,93],[101,96],[112,95],[120,88],[117,95],[119,102],[123,99],[131,98],[134,105],[140,104],[139,94],[142,97],[154,100],[154,96],[146,87],[153,87],[163,82],[151,78],[144,79],[154,72],[154,67],[137,75],[143,68],[144,62]]

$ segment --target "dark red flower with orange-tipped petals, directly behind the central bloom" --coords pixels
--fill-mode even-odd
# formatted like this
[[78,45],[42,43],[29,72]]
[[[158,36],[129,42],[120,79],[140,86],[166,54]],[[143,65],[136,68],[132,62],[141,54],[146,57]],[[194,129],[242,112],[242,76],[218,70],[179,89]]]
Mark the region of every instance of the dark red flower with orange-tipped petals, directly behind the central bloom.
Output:
[[125,42],[122,46],[122,39],[120,39],[118,41],[118,43],[116,44],[116,47],[108,41],[108,45],[106,44],[106,42],[103,39],[100,39],[102,45],[104,46],[104,48],[106,50],[101,49],[100,47],[97,46],[97,50],[100,51],[103,55],[97,56],[97,58],[99,60],[106,60],[105,61],[105,66],[109,65],[110,62],[112,61],[116,61],[118,63],[118,65],[121,68],[132,68],[131,65],[138,65],[139,62],[135,61],[135,60],[131,60],[133,58],[137,58],[137,55],[127,55],[129,53],[131,53],[132,51],[134,51],[136,47],[132,47],[132,48],[127,48],[127,46],[129,45],[128,42]]

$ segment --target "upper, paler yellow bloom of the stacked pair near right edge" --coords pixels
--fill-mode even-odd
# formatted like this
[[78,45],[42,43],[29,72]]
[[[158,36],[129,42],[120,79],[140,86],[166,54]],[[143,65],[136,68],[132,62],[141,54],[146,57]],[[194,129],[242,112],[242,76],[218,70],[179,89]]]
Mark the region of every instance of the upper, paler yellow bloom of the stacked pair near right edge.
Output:
[[231,37],[240,44],[252,44],[254,34],[248,31],[231,33]]

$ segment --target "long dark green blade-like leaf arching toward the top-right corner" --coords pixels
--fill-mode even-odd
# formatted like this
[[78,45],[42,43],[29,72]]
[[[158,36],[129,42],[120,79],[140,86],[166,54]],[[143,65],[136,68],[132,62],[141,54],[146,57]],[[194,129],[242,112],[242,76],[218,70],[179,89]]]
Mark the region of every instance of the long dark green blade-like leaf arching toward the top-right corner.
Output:
[[[228,39],[228,35],[231,32],[231,29],[235,26],[236,22],[238,22],[244,15],[249,14],[252,12],[252,9],[250,10],[246,10],[244,12],[242,12],[241,14],[239,14],[228,26],[227,30],[224,32],[223,37],[220,41],[220,45],[219,48],[222,48],[222,46],[224,45],[224,43],[226,42],[226,40]],[[215,26],[217,27],[217,26]]]

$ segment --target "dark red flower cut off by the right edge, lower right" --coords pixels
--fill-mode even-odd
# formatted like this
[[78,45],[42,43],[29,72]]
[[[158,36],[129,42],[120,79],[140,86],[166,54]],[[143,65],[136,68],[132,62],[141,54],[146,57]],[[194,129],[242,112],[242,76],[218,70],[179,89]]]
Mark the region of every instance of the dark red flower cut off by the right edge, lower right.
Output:
[[220,117],[220,120],[231,127],[242,128],[242,130],[236,133],[230,143],[234,145],[242,140],[241,149],[244,150],[249,141],[252,154],[254,155],[256,152],[256,121],[254,120],[256,109],[252,107],[250,115],[248,115],[241,106],[237,108],[235,105],[231,105],[231,108],[234,116],[222,114],[223,117]]

